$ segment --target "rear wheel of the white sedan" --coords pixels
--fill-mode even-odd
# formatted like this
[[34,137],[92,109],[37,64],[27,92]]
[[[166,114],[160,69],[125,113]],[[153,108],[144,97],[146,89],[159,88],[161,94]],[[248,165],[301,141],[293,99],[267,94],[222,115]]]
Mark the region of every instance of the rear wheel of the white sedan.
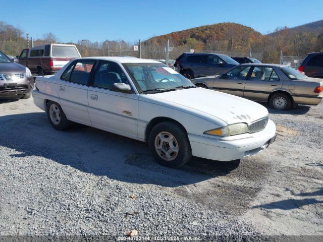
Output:
[[54,129],[65,130],[70,126],[71,122],[66,118],[60,104],[57,102],[48,101],[46,112],[49,124]]

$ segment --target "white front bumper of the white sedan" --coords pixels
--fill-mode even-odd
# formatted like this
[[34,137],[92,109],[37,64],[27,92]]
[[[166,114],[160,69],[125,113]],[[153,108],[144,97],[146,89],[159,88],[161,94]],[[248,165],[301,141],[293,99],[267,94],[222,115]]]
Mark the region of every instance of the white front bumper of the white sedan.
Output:
[[230,161],[254,155],[262,151],[276,135],[276,126],[272,120],[260,132],[243,135],[243,138],[215,139],[206,136],[188,134],[192,155],[220,161]]

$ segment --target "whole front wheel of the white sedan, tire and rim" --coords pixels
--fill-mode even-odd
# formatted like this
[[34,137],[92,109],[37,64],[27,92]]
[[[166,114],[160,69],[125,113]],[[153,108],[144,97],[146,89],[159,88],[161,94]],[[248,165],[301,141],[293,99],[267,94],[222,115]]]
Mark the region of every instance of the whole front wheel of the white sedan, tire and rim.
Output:
[[149,135],[149,149],[155,160],[171,168],[179,168],[192,157],[186,131],[174,122],[157,124]]

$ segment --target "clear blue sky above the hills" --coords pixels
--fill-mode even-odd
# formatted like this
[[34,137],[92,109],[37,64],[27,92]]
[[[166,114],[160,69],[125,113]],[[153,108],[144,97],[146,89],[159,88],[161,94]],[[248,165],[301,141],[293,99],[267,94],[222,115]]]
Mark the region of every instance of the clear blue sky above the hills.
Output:
[[61,42],[126,40],[201,25],[234,22],[260,33],[323,19],[323,0],[0,0],[0,21],[34,39],[51,32]]

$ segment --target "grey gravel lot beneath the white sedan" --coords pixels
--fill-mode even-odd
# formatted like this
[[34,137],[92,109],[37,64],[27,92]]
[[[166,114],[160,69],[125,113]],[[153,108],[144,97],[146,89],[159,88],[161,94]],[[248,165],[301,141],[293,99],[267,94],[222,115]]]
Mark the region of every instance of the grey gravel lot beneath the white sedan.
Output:
[[2,100],[0,235],[323,235],[323,105],[270,117],[265,151],[170,169],[144,143]]

